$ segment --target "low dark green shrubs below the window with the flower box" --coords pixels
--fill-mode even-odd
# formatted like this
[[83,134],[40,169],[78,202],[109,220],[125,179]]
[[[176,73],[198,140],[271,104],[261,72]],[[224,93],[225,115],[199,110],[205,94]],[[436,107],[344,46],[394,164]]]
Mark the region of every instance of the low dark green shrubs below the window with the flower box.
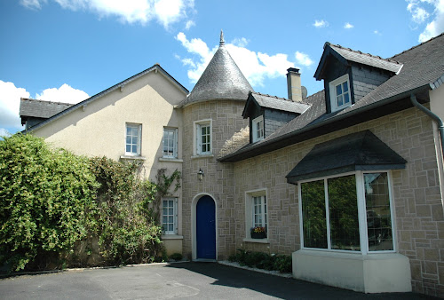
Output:
[[228,260],[237,262],[241,265],[265,269],[268,271],[291,272],[292,260],[290,256],[285,255],[269,255],[264,252],[246,251],[237,249],[234,255]]

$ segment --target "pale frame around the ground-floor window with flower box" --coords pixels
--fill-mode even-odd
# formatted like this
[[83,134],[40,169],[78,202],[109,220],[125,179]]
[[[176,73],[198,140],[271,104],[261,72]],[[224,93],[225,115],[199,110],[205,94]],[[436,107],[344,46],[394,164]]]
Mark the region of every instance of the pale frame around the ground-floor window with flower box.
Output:
[[254,211],[254,199],[255,197],[261,198],[261,214],[262,214],[262,225],[261,227],[266,227],[266,234],[268,236],[268,197],[267,190],[262,188],[258,190],[251,190],[245,192],[245,236],[247,239],[250,238],[250,229],[255,227],[255,211]]

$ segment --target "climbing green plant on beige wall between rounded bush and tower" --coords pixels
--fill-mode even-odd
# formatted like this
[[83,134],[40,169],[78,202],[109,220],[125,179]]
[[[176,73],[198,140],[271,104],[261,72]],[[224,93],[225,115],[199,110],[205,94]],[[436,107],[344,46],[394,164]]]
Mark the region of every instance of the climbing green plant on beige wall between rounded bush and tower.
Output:
[[150,205],[156,186],[139,179],[139,168],[138,163],[91,159],[100,183],[97,234],[106,264],[150,263],[162,251],[161,226]]

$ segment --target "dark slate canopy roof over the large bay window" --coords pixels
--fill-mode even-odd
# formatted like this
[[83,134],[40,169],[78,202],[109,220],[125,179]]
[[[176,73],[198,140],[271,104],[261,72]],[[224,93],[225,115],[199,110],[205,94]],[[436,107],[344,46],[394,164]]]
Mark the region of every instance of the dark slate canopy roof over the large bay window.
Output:
[[406,162],[370,130],[364,130],[317,144],[286,178],[297,184],[353,170],[404,169]]

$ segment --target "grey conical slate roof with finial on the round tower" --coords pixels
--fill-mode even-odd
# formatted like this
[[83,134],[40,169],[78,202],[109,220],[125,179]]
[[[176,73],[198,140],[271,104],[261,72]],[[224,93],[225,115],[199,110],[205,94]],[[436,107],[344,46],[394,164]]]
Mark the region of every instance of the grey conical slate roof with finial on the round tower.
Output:
[[253,88],[226,50],[224,34],[221,32],[218,51],[214,53],[201,78],[182,105],[215,99],[246,101],[249,91],[253,91]]

